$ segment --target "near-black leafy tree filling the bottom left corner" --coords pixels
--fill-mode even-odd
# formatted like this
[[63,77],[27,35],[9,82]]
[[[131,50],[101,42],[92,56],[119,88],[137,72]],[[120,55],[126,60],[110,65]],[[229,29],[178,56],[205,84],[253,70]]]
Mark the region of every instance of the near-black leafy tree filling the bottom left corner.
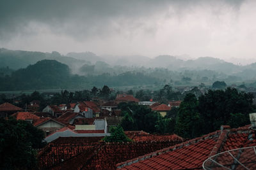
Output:
[[36,169],[44,133],[23,120],[0,118],[0,169]]

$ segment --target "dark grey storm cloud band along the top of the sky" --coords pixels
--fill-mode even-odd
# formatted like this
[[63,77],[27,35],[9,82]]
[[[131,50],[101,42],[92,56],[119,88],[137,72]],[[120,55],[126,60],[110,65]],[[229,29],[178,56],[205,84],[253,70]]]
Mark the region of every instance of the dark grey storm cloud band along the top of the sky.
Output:
[[[217,1],[209,1],[217,3]],[[239,8],[243,1],[221,1]],[[49,25],[56,34],[65,33],[70,36],[93,36],[94,34],[118,33],[113,27],[116,22],[119,27],[134,24],[140,18],[147,18],[158,11],[166,11],[169,6],[175,6],[175,15],[204,4],[205,1],[1,1],[0,35],[10,38],[13,34],[25,34],[24,27],[29,22],[39,22]],[[189,12],[189,11],[187,11]],[[169,13],[170,14],[170,13]],[[170,17],[170,16],[169,16]],[[172,16],[171,16],[172,17]],[[127,22],[127,25],[122,25]],[[129,25],[131,26],[131,25]],[[140,27],[140,25],[135,25]],[[134,27],[131,26],[131,29]],[[33,33],[33,32],[27,32]]]

